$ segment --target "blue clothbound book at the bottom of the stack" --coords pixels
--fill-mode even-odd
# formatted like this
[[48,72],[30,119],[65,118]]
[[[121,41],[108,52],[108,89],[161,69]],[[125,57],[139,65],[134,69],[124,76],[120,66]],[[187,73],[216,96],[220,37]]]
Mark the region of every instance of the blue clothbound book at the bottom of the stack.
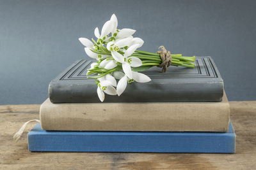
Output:
[[77,132],[44,131],[37,124],[28,133],[31,152],[159,152],[235,153],[236,134],[228,132]]

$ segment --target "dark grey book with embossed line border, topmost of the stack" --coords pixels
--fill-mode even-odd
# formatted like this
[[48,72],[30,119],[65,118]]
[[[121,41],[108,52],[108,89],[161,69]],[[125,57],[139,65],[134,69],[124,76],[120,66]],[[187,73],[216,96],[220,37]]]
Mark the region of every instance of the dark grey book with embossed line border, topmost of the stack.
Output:
[[[78,60],[49,84],[52,103],[100,103],[95,80],[86,72],[93,61]],[[223,80],[211,57],[196,57],[195,68],[170,66],[166,73],[152,67],[148,83],[129,83],[121,96],[106,95],[104,102],[153,103],[221,101]]]

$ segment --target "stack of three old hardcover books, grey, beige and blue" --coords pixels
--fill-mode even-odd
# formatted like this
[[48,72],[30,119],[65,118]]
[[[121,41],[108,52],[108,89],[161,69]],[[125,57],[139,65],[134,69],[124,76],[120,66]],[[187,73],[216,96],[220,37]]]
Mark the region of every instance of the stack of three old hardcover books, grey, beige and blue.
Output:
[[211,57],[195,68],[153,67],[152,81],[131,83],[101,103],[92,62],[79,60],[51,81],[40,122],[28,134],[32,152],[234,153],[236,134],[223,80]]

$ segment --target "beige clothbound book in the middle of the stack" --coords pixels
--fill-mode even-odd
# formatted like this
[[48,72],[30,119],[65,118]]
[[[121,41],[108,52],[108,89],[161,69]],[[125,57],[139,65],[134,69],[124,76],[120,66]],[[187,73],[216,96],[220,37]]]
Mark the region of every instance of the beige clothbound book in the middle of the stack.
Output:
[[40,107],[42,129],[49,131],[228,131],[230,107],[196,103],[61,103]]

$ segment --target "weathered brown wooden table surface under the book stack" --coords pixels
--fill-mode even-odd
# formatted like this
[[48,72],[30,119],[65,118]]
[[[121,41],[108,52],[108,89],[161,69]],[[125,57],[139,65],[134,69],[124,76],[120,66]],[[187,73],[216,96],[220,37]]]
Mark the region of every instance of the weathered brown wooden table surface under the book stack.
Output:
[[40,105],[0,106],[0,169],[256,169],[256,101],[230,102],[236,130],[235,154],[201,153],[40,153],[29,152],[21,125],[39,118]]

